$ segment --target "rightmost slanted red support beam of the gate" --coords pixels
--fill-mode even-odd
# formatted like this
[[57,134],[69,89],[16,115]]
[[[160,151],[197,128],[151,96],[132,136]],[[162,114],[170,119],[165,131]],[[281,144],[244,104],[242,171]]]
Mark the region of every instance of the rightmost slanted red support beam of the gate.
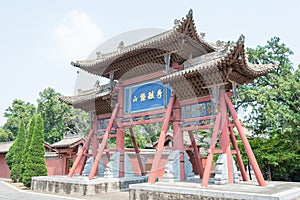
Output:
[[241,123],[238,119],[238,116],[237,116],[236,112],[235,112],[234,106],[232,105],[232,103],[231,103],[229,97],[227,96],[227,94],[225,94],[224,97],[225,97],[226,104],[229,108],[229,111],[232,115],[234,125],[235,125],[235,127],[237,128],[237,130],[239,132],[239,135],[241,137],[241,140],[242,140],[242,143],[244,145],[245,151],[247,153],[249,161],[250,161],[250,163],[252,165],[252,168],[254,170],[256,179],[257,179],[260,186],[266,186],[266,182],[265,182],[264,177],[263,177],[263,175],[260,171],[260,168],[257,164],[256,158],[253,154],[253,151],[252,151],[251,146],[248,142],[248,139],[247,139],[246,135],[244,134],[244,131],[242,129],[242,125],[241,125]]

